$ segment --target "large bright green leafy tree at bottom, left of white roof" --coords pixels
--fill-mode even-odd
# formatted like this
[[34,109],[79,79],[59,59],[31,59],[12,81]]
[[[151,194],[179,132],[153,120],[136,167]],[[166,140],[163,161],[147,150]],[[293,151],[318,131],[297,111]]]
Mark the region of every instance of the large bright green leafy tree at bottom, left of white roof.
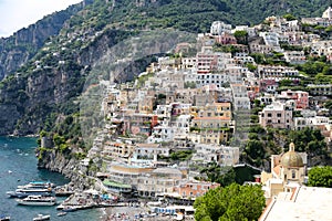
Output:
[[260,186],[232,183],[226,188],[209,190],[195,200],[195,220],[258,220],[266,199]]

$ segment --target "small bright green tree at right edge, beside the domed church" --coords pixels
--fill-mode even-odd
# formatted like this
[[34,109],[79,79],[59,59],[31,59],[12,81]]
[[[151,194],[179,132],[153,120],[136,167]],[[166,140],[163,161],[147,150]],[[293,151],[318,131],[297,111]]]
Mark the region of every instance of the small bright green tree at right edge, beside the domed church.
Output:
[[309,170],[308,186],[332,188],[332,167],[313,167]]

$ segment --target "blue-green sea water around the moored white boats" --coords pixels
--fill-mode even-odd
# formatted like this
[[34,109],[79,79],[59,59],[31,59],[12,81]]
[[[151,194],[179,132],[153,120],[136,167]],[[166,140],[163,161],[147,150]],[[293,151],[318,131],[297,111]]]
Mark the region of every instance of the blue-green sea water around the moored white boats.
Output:
[[[100,220],[101,211],[97,209],[76,211],[64,217],[58,217],[56,207],[18,206],[14,199],[7,197],[7,191],[14,190],[18,185],[25,185],[32,180],[51,181],[55,185],[69,182],[58,172],[37,168],[35,144],[34,138],[0,137],[0,215],[10,215],[11,220],[17,221],[33,220],[39,213],[51,214],[51,220]],[[58,201],[64,199],[58,198]]]

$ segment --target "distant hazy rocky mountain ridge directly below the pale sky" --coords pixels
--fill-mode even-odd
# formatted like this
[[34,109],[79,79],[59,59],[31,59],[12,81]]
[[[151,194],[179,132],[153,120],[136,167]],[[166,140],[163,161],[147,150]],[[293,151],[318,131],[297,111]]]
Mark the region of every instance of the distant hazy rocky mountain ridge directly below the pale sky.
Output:
[[77,11],[83,3],[69,7],[66,10],[55,12],[28,28],[21,29],[9,38],[0,39],[0,80],[14,73],[35,55],[44,41],[58,35],[64,22]]

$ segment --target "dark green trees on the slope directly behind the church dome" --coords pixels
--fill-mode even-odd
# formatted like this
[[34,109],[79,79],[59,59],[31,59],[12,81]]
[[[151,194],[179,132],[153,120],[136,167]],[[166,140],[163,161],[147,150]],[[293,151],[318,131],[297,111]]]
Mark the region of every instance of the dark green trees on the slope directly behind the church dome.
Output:
[[311,166],[329,157],[324,137],[319,129],[309,127],[301,130],[263,129],[260,126],[253,126],[241,159],[256,167],[269,167],[270,156],[288,151],[289,144],[292,141],[297,151],[308,154]]

